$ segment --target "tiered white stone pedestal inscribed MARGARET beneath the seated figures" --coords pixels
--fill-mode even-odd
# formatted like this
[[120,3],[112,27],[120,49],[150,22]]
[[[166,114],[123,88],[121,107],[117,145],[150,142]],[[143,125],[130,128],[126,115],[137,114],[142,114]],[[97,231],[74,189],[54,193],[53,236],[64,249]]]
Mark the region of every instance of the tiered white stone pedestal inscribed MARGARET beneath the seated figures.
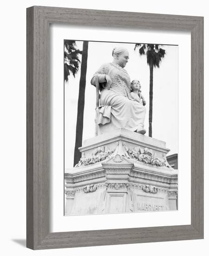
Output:
[[83,142],[65,170],[65,215],[177,209],[177,170],[159,141],[117,129]]

